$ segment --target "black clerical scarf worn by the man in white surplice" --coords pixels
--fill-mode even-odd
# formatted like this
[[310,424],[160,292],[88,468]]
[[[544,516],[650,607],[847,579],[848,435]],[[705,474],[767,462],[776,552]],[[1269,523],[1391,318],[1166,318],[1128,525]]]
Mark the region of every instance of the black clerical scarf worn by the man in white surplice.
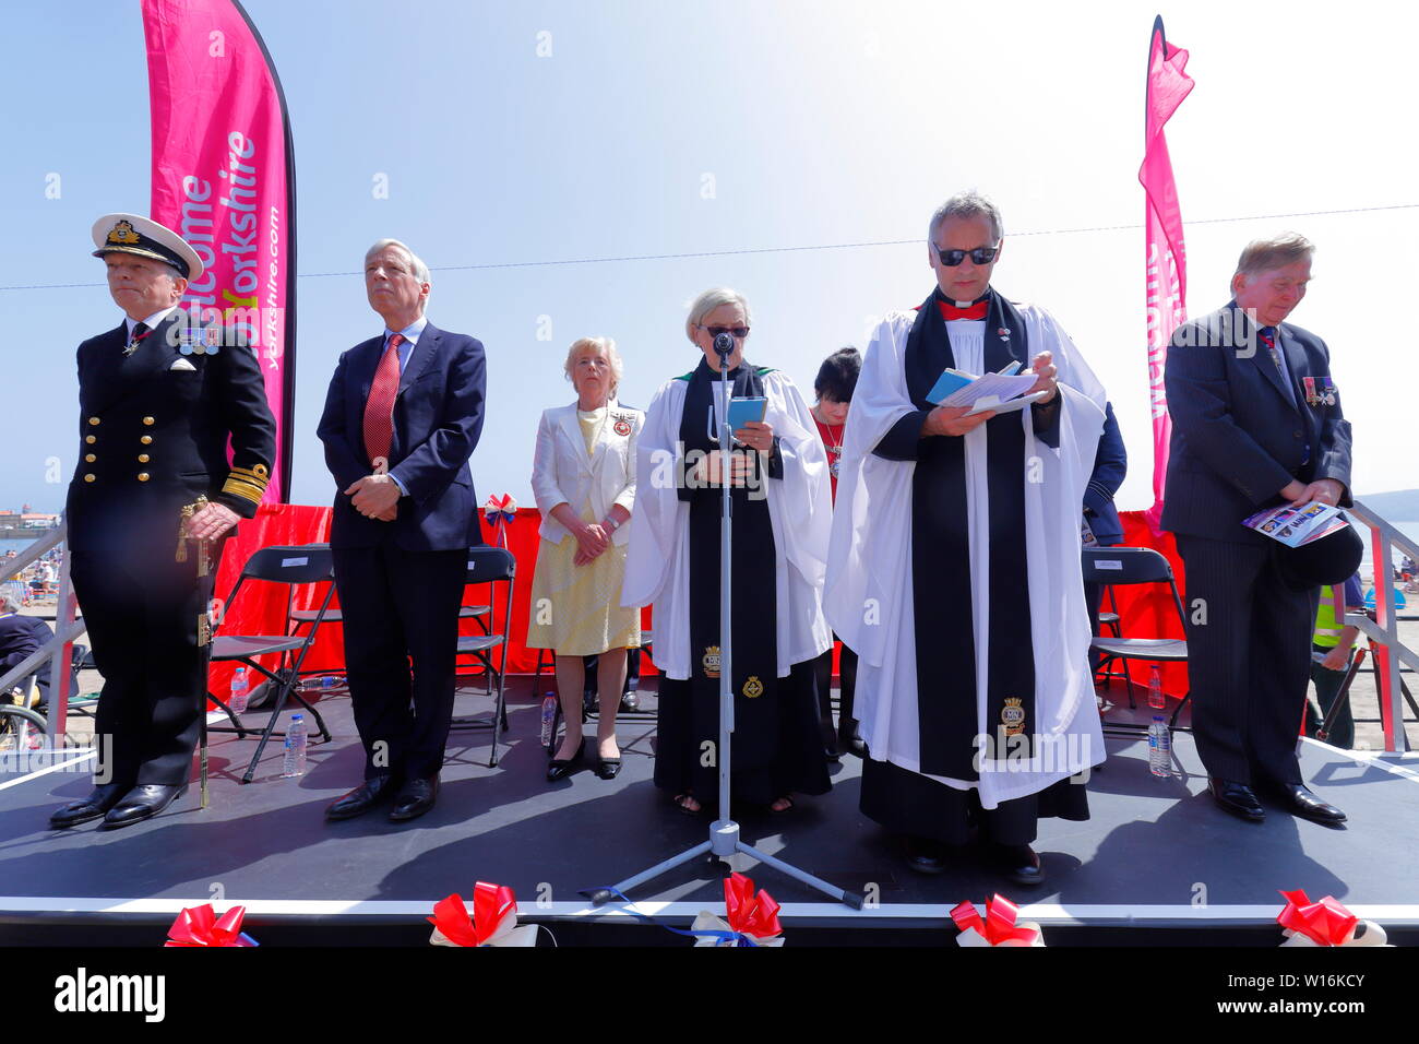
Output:
[[[955,365],[946,322],[935,290],[921,305],[907,337],[907,392],[918,409],[946,366]],[[1012,361],[1029,365],[1025,321],[993,288],[985,320],[985,369]],[[1029,572],[1025,554],[1025,429],[1019,413],[1003,413],[985,425],[989,533],[989,626],[982,651],[986,670],[986,713],[976,714],[975,612],[966,513],[965,437],[921,440],[912,473],[912,581],[917,635],[917,714],[921,771],[975,780],[978,733],[990,736],[983,757],[1005,758],[1006,744],[1022,757],[1033,751],[1034,658],[1030,635]]]

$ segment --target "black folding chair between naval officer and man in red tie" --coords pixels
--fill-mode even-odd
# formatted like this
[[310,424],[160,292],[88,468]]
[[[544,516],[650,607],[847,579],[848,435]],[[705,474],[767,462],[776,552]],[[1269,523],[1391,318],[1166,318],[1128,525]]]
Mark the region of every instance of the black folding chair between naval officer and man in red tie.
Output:
[[[325,727],[325,720],[321,717],[314,706],[311,706],[305,697],[297,690],[295,683],[301,675],[301,665],[305,662],[305,655],[309,652],[311,645],[315,642],[315,636],[321,629],[321,622],[326,619],[326,611],[331,607],[331,598],[335,594],[335,564],[331,555],[329,544],[302,544],[297,547],[263,547],[260,551],[253,554],[244,567],[241,567],[241,575],[237,577],[236,585],[231,588],[231,594],[227,597],[227,608],[237,601],[237,595],[248,580],[261,580],[272,584],[288,584],[292,589],[287,592],[287,618],[291,616],[291,597],[294,595],[295,584],[325,584],[325,598],[321,602],[321,608],[316,611],[315,619],[312,621],[311,629],[304,634],[288,634],[288,635],[221,635],[217,634],[220,629],[220,621],[217,626],[213,628],[211,638],[211,659],[214,663],[224,660],[234,660],[243,663],[250,670],[247,678],[253,679],[254,673],[263,675],[274,687],[275,699],[271,707],[271,717],[261,730],[261,740],[257,743],[255,753],[251,756],[251,764],[247,766],[247,771],[243,774],[243,783],[251,783],[255,776],[257,763],[261,760],[261,753],[265,750],[267,743],[272,736],[285,737],[285,732],[277,732],[277,723],[281,720],[281,712],[285,709],[288,699],[294,699],[315,719],[315,724],[319,729],[321,739],[325,743],[331,741],[331,732]],[[268,670],[257,662],[257,656],[268,656],[280,653],[281,660],[275,670]],[[254,686],[253,686],[254,687]],[[231,722],[231,727],[227,726],[207,726],[207,716],[203,714],[201,727],[201,776],[203,776],[203,793],[206,793],[207,780],[207,733],[236,733],[238,739],[245,739],[247,736],[255,736],[255,729],[247,729],[241,724],[240,719],[214,693],[209,692],[207,699],[221,707],[227,719]]]

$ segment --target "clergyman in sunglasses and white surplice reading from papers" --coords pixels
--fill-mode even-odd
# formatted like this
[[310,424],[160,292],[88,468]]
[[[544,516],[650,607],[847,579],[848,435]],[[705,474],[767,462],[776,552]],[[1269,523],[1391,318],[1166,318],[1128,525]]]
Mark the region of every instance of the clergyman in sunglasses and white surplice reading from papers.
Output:
[[[861,808],[939,874],[972,825],[1019,885],[1039,817],[1088,818],[1104,758],[1088,675],[1078,504],[1104,389],[1043,308],[992,288],[1003,227],[968,192],[932,214],[931,295],[877,327],[847,416],[826,611],[858,653]],[[1016,365],[1030,405],[928,401],[946,368]]]

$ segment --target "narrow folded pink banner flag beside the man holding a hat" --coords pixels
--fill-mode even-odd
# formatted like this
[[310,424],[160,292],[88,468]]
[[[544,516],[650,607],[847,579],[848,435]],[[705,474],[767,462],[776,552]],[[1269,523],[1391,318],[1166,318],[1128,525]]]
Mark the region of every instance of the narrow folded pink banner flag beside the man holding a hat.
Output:
[[1148,395],[1154,422],[1154,506],[1145,516],[1154,534],[1162,533],[1162,493],[1168,477],[1168,439],[1172,435],[1162,375],[1168,365],[1172,331],[1188,320],[1188,256],[1182,241],[1182,210],[1178,207],[1178,186],[1172,179],[1172,161],[1168,158],[1168,139],[1164,135],[1164,126],[1192,91],[1192,78],[1183,72],[1186,64],[1188,53],[1164,38],[1162,18],[1155,18],[1148,43],[1144,165],[1138,169],[1148,210]]

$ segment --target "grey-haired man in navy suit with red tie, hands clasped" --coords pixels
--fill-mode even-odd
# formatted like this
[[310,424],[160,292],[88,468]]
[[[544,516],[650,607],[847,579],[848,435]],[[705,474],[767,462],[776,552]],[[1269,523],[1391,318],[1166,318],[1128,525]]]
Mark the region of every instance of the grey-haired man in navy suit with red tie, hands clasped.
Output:
[[316,432],[338,489],[331,551],[365,744],[365,781],[325,815],[393,798],[400,822],[438,795],[467,550],[482,543],[468,457],[484,352],[424,318],[429,268],[399,240],[369,249],[365,290],[385,332],[341,355]]

